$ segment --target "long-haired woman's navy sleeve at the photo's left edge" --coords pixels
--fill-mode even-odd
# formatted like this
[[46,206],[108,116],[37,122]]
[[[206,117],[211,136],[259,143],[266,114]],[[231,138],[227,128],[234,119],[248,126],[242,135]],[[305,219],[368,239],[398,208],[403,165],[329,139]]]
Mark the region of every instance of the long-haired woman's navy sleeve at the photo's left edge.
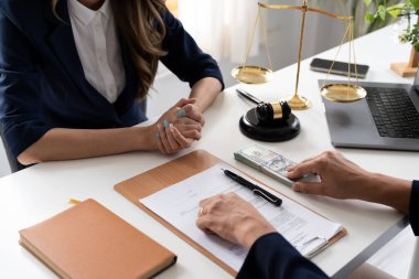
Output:
[[40,116],[41,79],[31,43],[0,10],[0,119],[14,157],[50,129]]

